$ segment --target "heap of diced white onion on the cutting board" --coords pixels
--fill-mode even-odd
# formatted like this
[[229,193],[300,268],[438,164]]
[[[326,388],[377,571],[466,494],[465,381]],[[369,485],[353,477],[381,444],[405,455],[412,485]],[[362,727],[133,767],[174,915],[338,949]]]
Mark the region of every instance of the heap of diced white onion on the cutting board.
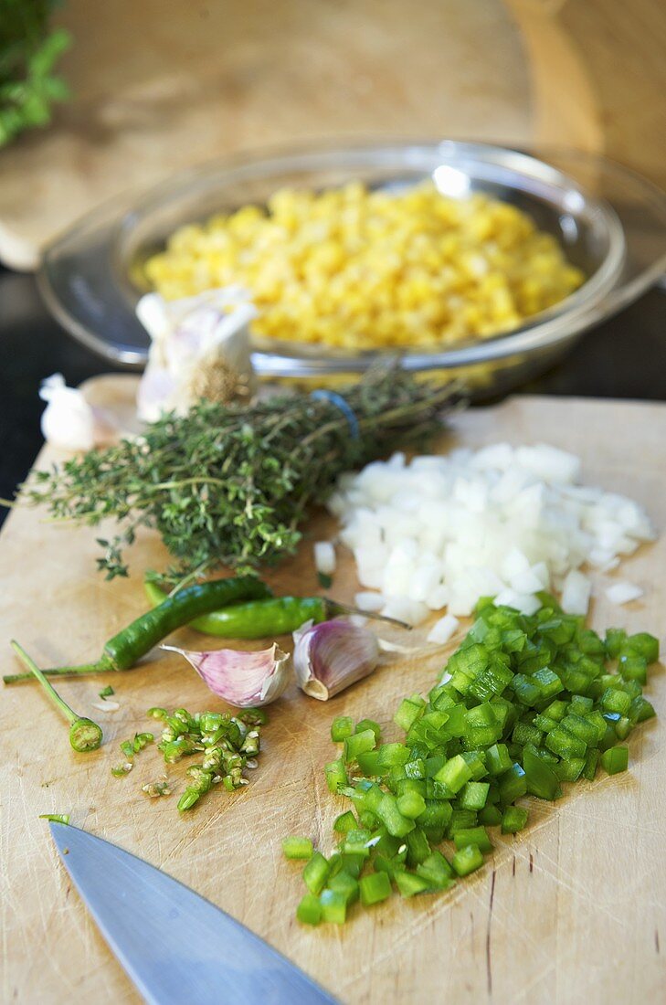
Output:
[[537,593],[561,589],[566,610],[586,613],[581,569],[615,568],[654,532],[637,502],[579,484],[580,472],[557,447],[497,443],[410,462],[395,454],[343,475],[329,508],[362,587],[380,591],[360,594],[365,609],[419,624],[494,596],[530,613]]

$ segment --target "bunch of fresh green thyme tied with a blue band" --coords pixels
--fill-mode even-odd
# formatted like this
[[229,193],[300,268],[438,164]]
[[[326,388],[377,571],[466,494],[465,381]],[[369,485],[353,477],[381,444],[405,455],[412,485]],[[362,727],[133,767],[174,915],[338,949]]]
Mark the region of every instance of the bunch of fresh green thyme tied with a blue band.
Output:
[[33,471],[23,498],[58,520],[121,524],[118,536],[98,539],[107,579],[128,575],[123,549],[140,526],[159,531],[178,560],[163,580],[175,584],[216,566],[248,571],[295,550],[306,508],[322,501],[343,471],[441,428],[453,394],[390,368],[338,396],[201,401],[140,438]]

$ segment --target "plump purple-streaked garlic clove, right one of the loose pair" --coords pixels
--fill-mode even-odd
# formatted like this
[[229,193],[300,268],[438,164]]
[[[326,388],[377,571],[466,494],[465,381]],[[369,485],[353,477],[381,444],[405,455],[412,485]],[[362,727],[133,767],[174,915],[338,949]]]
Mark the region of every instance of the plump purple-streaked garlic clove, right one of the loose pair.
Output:
[[379,662],[373,632],[349,621],[303,625],[293,633],[293,640],[298,686],[319,701],[367,677]]

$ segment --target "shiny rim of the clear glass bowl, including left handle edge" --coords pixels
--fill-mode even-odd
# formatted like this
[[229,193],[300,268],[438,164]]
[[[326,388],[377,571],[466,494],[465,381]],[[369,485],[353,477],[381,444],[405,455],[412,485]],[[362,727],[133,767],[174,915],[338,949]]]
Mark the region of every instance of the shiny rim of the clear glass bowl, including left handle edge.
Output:
[[[540,195],[547,189],[575,192],[582,200],[588,213],[594,213],[603,221],[609,246],[607,254],[597,269],[585,282],[569,296],[507,332],[497,333],[483,339],[466,342],[457,348],[411,349],[395,347],[378,350],[337,350],[323,344],[289,343],[281,340],[253,341],[253,363],[260,374],[276,376],[314,376],[335,373],[360,373],[389,357],[398,357],[401,365],[409,370],[457,369],[479,363],[546,349],[560,342],[570,341],[585,327],[586,319],[599,307],[604,296],[616,284],[620,276],[626,251],[625,232],[612,205],[605,199],[592,196],[584,185],[571,175],[561,171],[547,161],[531,153],[498,144],[477,143],[464,140],[404,140],[366,138],[355,140],[306,141],[290,145],[274,145],[270,148],[250,152],[238,152],[229,157],[215,159],[204,164],[177,172],[157,185],[135,194],[133,199],[119,205],[116,197],[96,210],[83,216],[60,235],[44,252],[38,273],[40,288],[51,310],[73,334],[95,352],[104,351],[102,338],[90,332],[60,301],[48,276],[50,257],[58,247],[75,238],[80,232],[89,230],[102,217],[105,224],[105,244],[109,253],[113,274],[109,280],[116,291],[121,293],[131,312],[132,300],[136,303],[140,291],[132,283],[128,274],[124,250],[128,241],[136,233],[143,219],[149,218],[158,208],[174,202],[181,192],[192,191],[199,184],[223,185],[239,175],[247,177],[270,176],[279,169],[298,167],[320,168],[345,164],[356,159],[358,166],[380,168],[378,158],[400,158],[406,169],[414,170],[424,158],[446,162],[456,159],[462,163],[485,165],[503,173],[505,177],[520,177],[529,183],[520,190]],[[435,167],[437,165],[434,165]],[[399,165],[393,164],[394,170]],[[432,174],[434,167],[423,169],[423,176]],[[519,186],[514,186],[520,188]],[[549,201],[552,205],[552,200]],[[580,207],[579,207],[580,208]],[[108,210],[112,210],[110,217]],[[113,211],[115,209],[115,212]],[[106,218],[103,218],[106,210]],[[108,358],[108,352],[106,352]],[[133,360],[141,363],[140,351]],[[123,360],[119,359],[119,362]]]

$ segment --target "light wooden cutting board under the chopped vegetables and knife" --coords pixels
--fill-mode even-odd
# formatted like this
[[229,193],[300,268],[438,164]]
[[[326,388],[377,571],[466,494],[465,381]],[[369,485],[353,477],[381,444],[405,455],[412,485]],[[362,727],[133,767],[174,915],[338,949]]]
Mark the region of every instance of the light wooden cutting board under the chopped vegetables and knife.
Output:
[[[585,478],[642,502],[666,527],[666,406],[537,397],[514,398],[456,417],[440,444],[477,446],[506,439],[544,440],[579,453]],[[40,460],[54,459],[52,450]],[[272,577],[283,591],[314,591],[311,541],[328,533],[321,517],[307,528],[298,558]],[[54,527],[35,511],[15,511],[0,538],[3,672],[18,638],[42,664],[81,661],[146,604],[141,576],[166,555],[145,535],[129,581],[105,583],[94,572],[96,546],[87,530]],[[645,597],[612,608],[599,577],[592,622],[648,629],[664,645],[666,536],[643,547],[621,576]],[[350,600],[355,576],[340,554],[334,593]],[[423,633],[422,633],[423,634]],[[183,630],[178,640],[201,646]],[[299,927],[298,867],[280,840],[309,834],[330,850],[339,801],[325,788],[322,766],[332,755],[334,715],[371,716],[392,731],[401,696],[427,689],[443,664],[438,652],[415,659],[385,657],[373,677],[324,705],[290,687],[271,710],[260,767],[252,784],[229,797],[216,791],[179,817],[176,796],[149,800],[143,782],[160,774],[145,752],[123,779],[109,768],[118,744],[147,728],[153,705],[216,708],[202,682],[178,657],[159,655],[124,674],[62,682],[80,712],[98,689],[116,688],[120,711],[97,713],[105,743],[77,756],[66,729],[32,685],[0,695],[0,929],[2,1001],[42,1005],[72,1000],[138,1002],[109,954],[51,844],[39,813],[68,812],[72,823],[136,852],[248,925],[344,1002],[493,1002],[630,1005],[666,997],[666,876],[663,864],[666,794],[664,718],[629,741],[630,771],[571,787],[554,805],[532,800],[527,829],[495,838],[482,869],[450,893],[390,902],[355,913],[343,930]],[[666,678],[655,670],[648,694],[666,716]],[[182,772],[174,770],[182,786]],[[176,1000],[176,999],[175,999]],[[187,1001],[182,989],[178,1000]]]

